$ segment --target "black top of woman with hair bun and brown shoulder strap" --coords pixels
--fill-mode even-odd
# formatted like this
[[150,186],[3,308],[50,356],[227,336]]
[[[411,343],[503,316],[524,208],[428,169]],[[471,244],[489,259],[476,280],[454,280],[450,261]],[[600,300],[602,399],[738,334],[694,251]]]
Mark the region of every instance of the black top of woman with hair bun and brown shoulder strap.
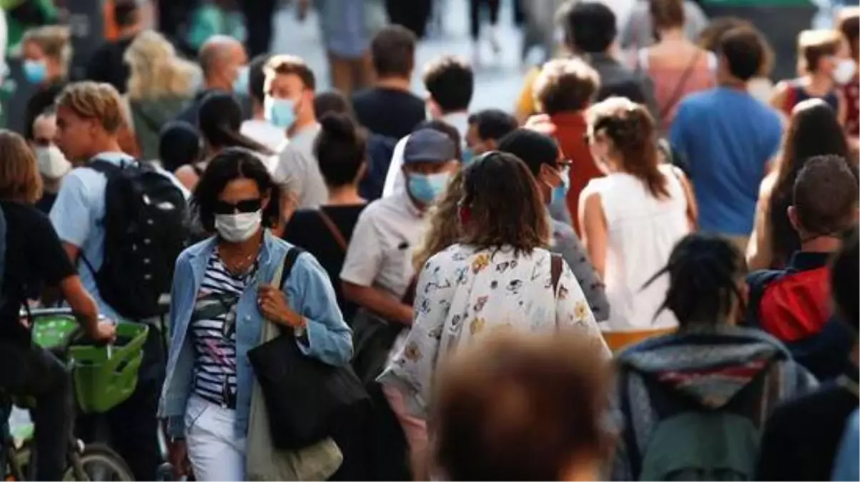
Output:
[[[366,205],[322,206],[320,209],[329,216],[348,243],[353,237],[353,229],[355,229],[355,223],[359,221],[359,214]],[[322,268],[329,273],[331,284],[335,287],[337,304],[343,313],[343,319],[347,321],[347,324],[352,324],[353,315],[358,307],[344,299],[341,289],[341,268],[343,268],[343,261],[347,258],[347,253],[338,245],[335,236],[322,222],[319,211],[310,209],[296,211],[290,218],[290,222],[286,224],[284,239],[313,254]]]

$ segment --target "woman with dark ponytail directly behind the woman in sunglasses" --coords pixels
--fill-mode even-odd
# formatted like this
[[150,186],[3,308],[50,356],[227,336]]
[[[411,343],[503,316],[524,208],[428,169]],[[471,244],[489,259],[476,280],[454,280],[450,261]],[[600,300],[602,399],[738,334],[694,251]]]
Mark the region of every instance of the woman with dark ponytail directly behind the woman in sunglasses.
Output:
[[235,95],[213,92],[200,103],[200,135],[203,137],[205,156],[202,161],[188,163],[176,170],[176,178],[190,190],[206,170],[208,160],[230,147],[242,147],[254,151],[261,161],[267,161],[273,153],[261,143],[242,134],[244,114]]

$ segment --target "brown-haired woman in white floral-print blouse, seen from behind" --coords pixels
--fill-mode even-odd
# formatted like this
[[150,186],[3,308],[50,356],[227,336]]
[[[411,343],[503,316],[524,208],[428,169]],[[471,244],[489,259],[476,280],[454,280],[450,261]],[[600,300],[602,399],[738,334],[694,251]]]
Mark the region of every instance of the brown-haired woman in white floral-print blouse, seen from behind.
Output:
[[421,270],[415,320],[380,377],[427,417],[439,363],[497,330],[574,330],[608,356],[568,265],[546,247],[550,226],[537,183],[516,156],[491,151],[464,169],[459,241]]

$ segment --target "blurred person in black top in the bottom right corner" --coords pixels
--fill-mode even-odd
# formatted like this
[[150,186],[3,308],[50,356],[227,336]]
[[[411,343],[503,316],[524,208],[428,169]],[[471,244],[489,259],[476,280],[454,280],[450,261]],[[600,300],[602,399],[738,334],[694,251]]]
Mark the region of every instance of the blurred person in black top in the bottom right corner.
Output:
[[[831,190],[832,187],[823,189],[820,196],[826,197],[824,192]],[[833,239],[834,235],[820,237],[829,238],[835,244],[839,238]],[[829,278],[837,318],[828,325],[838,324],[842,333],[837,335],[837,340],[851,343],[848,363],[835,380],[823,383],[811,394],[778,406],[771,414],[761,438],[755,478],[758,482],[830,480],[833,461],[851,413],[860,407],[860,339],[857,338],[860,333],[860,298],[857,297],[860,229],[857,226],[850,229],[842,240],[842,246],[830,259],[826,278]]]

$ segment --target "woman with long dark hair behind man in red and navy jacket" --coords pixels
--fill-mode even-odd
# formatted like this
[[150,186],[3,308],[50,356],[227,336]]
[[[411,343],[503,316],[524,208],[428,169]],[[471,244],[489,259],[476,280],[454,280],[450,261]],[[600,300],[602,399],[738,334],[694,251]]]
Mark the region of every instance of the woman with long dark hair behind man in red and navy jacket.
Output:
[[791,113],[777,167],[761,182],[753,235],[746,247],[750,270],[782,268],[801,248],[788,214],[795,180],[810,157],[826,155],[851,158],[845,131],[825,101],[802,101]]

